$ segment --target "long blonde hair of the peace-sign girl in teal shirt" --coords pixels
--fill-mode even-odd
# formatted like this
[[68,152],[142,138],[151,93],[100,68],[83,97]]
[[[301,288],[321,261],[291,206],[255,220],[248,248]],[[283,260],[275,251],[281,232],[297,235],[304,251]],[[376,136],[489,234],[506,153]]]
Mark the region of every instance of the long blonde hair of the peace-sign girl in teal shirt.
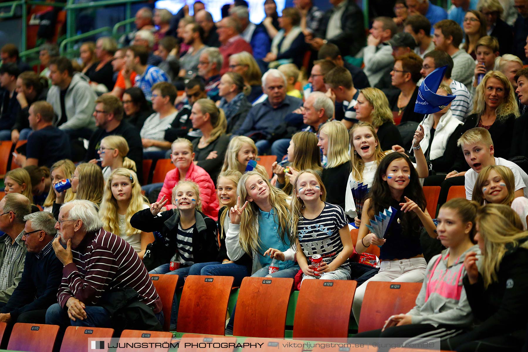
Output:
[[[262,177],[262,175],[256,171],[250,171],[242,175],[237,186],[237,196],[240,197],[240,203],[246,202],[248,197],[248,191],[246,189],[246,181],[249,177],[257,175]],[[267,177],[262,177],[269,189],[269,202],[272,208],[276,211],[276,220],[279,223],[279,228],[277,233],[279,234],[280,240],[282,243],[287,243],[286,240],[289,239],[288,235],[288,196],[286,193],[282,192],[280,189],[272,186],[269,183]],[[249,202],[248,206],[242,212],[240,220],[240,246],[244,252],[251,253],[264,253],[266,249],[261,248],[261,243],[259,240],[259,234],[255,226],[255,222],[258,221],[259,216],[259,207],[254,202]]]

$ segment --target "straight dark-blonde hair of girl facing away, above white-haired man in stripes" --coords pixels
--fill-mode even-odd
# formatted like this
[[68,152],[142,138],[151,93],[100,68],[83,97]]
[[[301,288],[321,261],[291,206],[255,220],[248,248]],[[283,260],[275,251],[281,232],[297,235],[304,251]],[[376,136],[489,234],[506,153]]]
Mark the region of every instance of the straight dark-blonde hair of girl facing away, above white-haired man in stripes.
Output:
[[83,163],[79,168],[79,186],[77,186],[76,199],[86,199],[97,206],[102,201],[105,179],[102,177],[99,166],[91,163]]

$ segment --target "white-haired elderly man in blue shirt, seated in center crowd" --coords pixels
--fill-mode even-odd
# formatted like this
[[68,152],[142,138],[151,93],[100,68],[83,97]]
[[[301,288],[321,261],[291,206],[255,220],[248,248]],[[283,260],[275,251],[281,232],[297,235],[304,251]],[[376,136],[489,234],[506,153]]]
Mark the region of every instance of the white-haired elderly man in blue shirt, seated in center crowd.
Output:
[[268,70],[262,76],[262,91],[268,98],[249,110],[246,120],[233,135],[243,135],[256,140],[259,154],[271,146],[275,129],[285,123],[285,117],[299,108],[302,100],[286,95],[286,78],[277,69]]

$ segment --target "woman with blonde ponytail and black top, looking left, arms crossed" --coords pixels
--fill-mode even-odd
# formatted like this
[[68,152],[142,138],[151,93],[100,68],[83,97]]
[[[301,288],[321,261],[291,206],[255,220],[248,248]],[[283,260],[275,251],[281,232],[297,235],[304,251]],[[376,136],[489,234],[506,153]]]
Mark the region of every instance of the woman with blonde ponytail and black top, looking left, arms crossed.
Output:
[[199,99],[193,104],[191,121],[202,137],[193,140],[194,164],[202,167],[213,180],[218,177],[229,144],[225,134],[227,121],[224,111],[211,99]]

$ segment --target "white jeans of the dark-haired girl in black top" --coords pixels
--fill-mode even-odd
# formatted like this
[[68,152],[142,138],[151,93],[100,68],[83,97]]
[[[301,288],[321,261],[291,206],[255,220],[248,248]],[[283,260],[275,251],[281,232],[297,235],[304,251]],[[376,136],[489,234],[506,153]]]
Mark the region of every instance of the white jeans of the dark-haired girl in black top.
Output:
[[[356,288],[354,302],[352,303],[352,312],[357,324],[360,322],[361,305],[367,283],[371,281],[394,281],[394,282],[423,282],[426,275],[427,263],[424,258],[411,258],[402,260],[383,261],[380,263],[380,271],[372,278],[365,281],[360,287]],[[387,299],[388,297],[380,297]],[[407,313],[407,312],[402,312]]]

